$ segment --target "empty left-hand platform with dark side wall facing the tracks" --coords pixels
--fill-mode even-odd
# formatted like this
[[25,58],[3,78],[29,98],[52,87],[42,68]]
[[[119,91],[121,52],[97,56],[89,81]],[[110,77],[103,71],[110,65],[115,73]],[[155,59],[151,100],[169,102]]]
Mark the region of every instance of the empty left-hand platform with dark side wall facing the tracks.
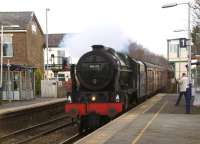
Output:
[[0,105],[0,137],[65,116],[66,98],[35,98]]

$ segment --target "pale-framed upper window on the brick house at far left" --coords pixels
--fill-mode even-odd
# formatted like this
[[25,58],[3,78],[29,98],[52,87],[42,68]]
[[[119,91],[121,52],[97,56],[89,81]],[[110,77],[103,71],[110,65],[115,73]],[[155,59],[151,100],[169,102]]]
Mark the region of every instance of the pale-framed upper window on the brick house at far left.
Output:
[[12,45],[12,35],[11,34],[4,34],[4,36],[3,36],[3,56],[4,57],[12,57],[13,56],[13,45]]

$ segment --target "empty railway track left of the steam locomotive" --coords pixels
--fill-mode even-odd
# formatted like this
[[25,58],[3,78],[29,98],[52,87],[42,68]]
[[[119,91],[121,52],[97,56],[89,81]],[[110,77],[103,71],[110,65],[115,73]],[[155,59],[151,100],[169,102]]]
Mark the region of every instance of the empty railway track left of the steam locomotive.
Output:
[[21,129],[0,137],[1,144],[24,144],[39,139],[64,127],[73,125],[67,116],[61,116],[25,129]]

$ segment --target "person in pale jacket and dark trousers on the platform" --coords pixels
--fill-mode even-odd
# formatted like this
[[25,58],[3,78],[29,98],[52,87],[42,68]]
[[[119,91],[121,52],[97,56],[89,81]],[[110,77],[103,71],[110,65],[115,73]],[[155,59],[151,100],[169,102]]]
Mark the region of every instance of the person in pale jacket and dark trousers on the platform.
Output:
[[184,95],[185,96],[185,101],[186,101],[186,89],[187,89],[187,83],[188,83],[188,78],[186,76],[185,73],[182,74],[182,77],[180,78],[180,80],[178,81],[178,84],[179,84],[179,96],[178,96],[178,99],[176,101],[176,106],[179,105],[180,101],[181,101],[181,98],[182,96]]

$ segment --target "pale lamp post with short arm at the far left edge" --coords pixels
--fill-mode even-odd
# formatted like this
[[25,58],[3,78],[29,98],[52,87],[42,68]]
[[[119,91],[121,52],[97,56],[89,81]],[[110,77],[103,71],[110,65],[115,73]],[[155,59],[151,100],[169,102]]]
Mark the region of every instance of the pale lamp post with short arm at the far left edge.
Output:
[[1,25],[1,71],[0,71],[0,89],[2,89],[3,86],[3,31],[4,28],[18,28],[19,25]]

